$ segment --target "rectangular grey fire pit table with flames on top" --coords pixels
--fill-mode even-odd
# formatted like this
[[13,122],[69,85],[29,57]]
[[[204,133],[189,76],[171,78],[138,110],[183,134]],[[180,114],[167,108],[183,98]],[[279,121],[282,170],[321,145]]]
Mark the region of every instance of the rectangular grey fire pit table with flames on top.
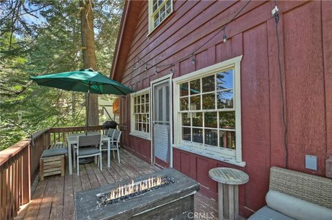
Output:
[[189,219],[199,183],[172,168],[75,193],[76,219]]

